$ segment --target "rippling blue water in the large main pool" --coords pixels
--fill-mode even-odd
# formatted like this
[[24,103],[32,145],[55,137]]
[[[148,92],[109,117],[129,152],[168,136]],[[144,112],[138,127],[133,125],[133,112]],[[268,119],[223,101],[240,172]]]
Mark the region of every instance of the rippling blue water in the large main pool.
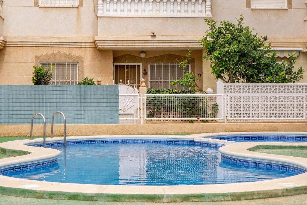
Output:
[[251,182],[294,175],[234,166],[216,148],[194,144],[72,144],[56,164],[6,175],[50,182],[190,185]]

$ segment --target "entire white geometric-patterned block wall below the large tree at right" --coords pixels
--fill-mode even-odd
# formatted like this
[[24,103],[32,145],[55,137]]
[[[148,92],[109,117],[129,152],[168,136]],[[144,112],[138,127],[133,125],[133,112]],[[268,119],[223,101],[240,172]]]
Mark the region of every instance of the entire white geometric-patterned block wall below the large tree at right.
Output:
[[230,121],[306,120],[307,84],[218,82],[217,89]]

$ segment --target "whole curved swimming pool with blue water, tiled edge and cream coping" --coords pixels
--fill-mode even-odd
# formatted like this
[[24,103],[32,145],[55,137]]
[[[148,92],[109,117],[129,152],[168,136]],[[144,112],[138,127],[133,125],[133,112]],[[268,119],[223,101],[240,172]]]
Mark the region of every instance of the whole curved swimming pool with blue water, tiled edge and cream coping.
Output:
[[[42,148],[42,139],[9,141],[1,143],[0,147],[21,156],[0,159],[0,189],[6,195],[19,197],[117,202],[220,201],[303,194],[307,191],[307,158],[263,154],[249,148],[307,146],[306,136],[307,132],[70,136],[66,151],[62,147],[63,137],[46,139],[47,148]],[[223,137],[239,142],[231,143]],[[227,146],[223,146],[225,144]],[[70,150],[73,147],[75,151]],[[93,152],[87,154],[85,147]],[[97,156],[99,163],[105,164],[95,160],[71,160],[69,155]],[[107,155],[112,157],[105,159]],[[161,166],[157,166],[159,164]],[[78,171],[73,173],[73,167]],[[175,171],[169,171],[171,168]],[[84,169],[92,169],[92,172],[84,172]],[[164,175],[163,170],[166,170]],[[21,174],[28,176],[10,177]],[[59,177],[54,177],[56,174]],[[78,178],[87,175],[95,177],[81,183]],[[156,176],[159,180],[155,180]],[[55,182],[49,181],[52,177],[56,178]],[[68,179],[73,183],[68,183]],[[248,181],[243,182],[245,179]],[[232,183],[239,181],[241,183]]]

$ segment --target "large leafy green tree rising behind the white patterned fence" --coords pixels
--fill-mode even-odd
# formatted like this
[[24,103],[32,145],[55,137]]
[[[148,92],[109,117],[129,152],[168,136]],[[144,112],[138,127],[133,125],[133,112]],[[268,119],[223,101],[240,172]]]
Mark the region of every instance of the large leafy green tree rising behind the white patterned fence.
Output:
[[277,63],[277,52],[265,45],[266,36],[253,34],[254,28],[243,26],[243,16],[237,25],[229,21],[205,19],[209,30],[201,40],[207,49],[204,59],[211,62],[212,74],[227,83],[234,82],[280,82],[288,83],[302,79],[304,70],[293,72],[296,56],[290,54],[290,63]]

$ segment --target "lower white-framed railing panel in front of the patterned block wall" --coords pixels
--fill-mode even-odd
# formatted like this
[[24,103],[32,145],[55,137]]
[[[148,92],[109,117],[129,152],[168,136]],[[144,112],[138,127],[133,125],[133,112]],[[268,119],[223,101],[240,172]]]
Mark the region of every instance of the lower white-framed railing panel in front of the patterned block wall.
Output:
[[305,95],[228,95],[228,120],[305,120]]

